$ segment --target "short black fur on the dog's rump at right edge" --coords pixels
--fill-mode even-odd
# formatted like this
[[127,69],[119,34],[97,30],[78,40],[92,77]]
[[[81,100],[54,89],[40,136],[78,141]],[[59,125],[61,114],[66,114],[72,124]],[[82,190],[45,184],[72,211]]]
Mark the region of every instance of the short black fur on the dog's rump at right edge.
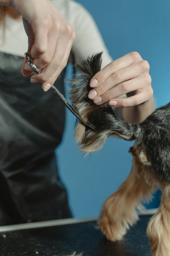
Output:
[[170,182],[170,103],[154,111],[140,127],[148,165],[159,179]]

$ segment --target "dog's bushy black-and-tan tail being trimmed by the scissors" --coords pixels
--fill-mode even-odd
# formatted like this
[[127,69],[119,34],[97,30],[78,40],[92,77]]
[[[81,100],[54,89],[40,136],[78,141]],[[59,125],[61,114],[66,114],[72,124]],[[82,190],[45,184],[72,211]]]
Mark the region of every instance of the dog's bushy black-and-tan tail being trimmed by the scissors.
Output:
[[86,153],[99,150],[109,136],[120,137],[128,141],[135,140],[138,126],[120,121],[108,104],[97,106],[88,94],[92,89],[89,84],[92,77],[100,71],[102,53],[93,55],[76,66],[78,74],[71,80],[70,100],[84,121],[88,122],[97,132],[77,122],[75,138],[81,151]]

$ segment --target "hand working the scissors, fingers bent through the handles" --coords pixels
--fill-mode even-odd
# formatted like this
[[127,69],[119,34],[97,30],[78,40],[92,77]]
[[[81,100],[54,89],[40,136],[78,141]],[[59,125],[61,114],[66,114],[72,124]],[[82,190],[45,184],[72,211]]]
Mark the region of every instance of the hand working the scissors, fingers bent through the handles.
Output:
[[[10,6],[21,13],[28,54],[37,68],[43,69],[31,77],[31,82],[42,82],[43,90],[48,91],[67,64],[75,32],[50,0],[11,0]],[[22,74],[32,73],[25,59]]]

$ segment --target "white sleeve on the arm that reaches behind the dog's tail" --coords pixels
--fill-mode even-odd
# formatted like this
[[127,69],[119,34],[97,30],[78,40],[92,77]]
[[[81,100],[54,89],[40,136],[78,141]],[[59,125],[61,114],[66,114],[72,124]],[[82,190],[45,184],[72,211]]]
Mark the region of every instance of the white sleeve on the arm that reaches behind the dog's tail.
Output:
[[[69,1],[69,21],[70,25],[76,32],[76,39],[72,45],[72,53],[74,55],[75,63],[80,63],[86,60],[92,54],[103,52],[102,67],[113,61],[106,45],[103,41],[102,35],[92,18],[92,15],[79,3]],[[119,98],[125,98],[122,95]],[[112,108],[115,114],[121,117],[121,108]]]

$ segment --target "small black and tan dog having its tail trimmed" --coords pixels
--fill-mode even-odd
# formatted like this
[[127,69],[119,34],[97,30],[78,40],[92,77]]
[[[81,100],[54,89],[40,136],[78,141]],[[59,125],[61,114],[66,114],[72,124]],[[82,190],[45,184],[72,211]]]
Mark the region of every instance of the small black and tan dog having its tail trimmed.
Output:
[[150,199],[160,188],[161,204],[149,221],[147,234],[152,256],[170,256],[170,103],[138,125],[121,121],[108,104],[97,106],[87,96],[90,80],[100,71],[101,62],[102,53],[82,61],[71,80],[70,100],[83,120],[96,130],[77,121],[75,138],[86,153],[99,150],[109,136],[135,141],[135,145],[129,150],[133,155],[131,172],[118,191],[106,199],[99,228],[108,240],[121,240],[138,220],[135,208],[142,209],[141,201]]

